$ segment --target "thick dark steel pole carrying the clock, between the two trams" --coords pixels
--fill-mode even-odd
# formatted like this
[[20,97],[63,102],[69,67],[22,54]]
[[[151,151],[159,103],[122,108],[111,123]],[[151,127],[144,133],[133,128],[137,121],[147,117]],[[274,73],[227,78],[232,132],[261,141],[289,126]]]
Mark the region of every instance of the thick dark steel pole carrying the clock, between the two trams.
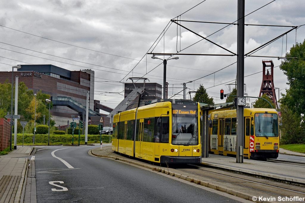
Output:
[[[237,1],[237,99],[244,97],[244,52],[245,52],[245,0]],[[243,119],[244,106],[236,107],[237,136],[236,136],[236,163],[243,163]]]

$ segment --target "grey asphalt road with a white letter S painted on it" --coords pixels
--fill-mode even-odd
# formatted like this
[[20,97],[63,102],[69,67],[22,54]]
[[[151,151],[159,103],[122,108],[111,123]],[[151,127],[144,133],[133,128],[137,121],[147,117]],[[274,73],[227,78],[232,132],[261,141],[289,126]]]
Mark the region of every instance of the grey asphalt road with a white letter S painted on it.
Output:
[[168,175],[90,156],[95,147],[37,148],[37,202],[239,202]]

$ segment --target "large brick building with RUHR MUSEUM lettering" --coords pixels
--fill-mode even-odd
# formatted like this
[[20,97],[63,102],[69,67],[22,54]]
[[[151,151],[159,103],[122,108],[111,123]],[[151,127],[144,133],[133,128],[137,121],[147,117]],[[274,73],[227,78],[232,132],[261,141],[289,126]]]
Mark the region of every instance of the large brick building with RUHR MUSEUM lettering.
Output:
[[[41,90],[51,96],[66,96],[86,105],[86,94],[89,91],[89,108],[94,109],[94,71],[69,71],[54,65],[21,65],[14,71],[14,78],[18,75],[19,82],[24,82],[34,93]],[[12,72],[0,72],[0,83],[9,79],[12,82]],[[66,106],[54,106],[51,109],[53,120],[58,125],[67,125],[71,115],[78,112]],[[46,115],[47,116],[47,115]]]

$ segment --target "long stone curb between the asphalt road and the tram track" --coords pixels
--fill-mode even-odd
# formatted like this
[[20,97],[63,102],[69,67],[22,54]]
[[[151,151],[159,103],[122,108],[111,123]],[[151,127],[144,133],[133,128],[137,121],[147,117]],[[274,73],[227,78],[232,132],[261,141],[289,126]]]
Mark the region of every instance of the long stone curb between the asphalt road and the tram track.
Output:
[[[155,167],[154,166],[147,166],[147,165],[142,164],[142,163],[137,163],[137,162],[134,162],[134,161],[131,161],[131,160],[129,161],[127,159],[122,159],[122,158],[115,157],[115,156],[105,156],[105,155],[94,154],[94,153],[92,153],[92,150],[93,149],[89,150],[88,154],[98,156],[98,157],[112,158],[114,160],[120,160],[120,161],[124,161],[124,162],[127,162],[127,163],[135,164],[135,165],[138,165],[138,166],[149,168],[151,170],[154,170],[154,171],[157,171],[157,172],[160,172],[160,173],[165,173],[165,174],[168,174],[170,176],[174,176],[174,177],[177,177],[177,178],[181,178],[183,180],[187,180],[191,183],[195,183],[195,184],[202,185],[202,186],[205,186],[205,187],[210,187],[210,188],[215,189],[215,190],[226,192],[228,194],[231,194],[231,195],[234,195],[234,196],[237,196],[237,197],[240,197],[240,198],[244,198],[246,200],[253,201],[252,198],[254,196],[250,195],[250,194],[246,194],[246,193],[243,193],[243,192],[240,192],[240,191],[232,190],[230,188],[223,187],[223,186],[216,185],[216,184],[212,184],[212,183],[208,183],[208,182],[205,182],[205,181],[194,180],[193,178],[186,177],[184,175],[178,175],[178,174],[175,174],[173,172],[170,172],[169,170],[166,171],[164,169],[157,168],[156,166]],[[261,203],[261,201],[258,201],[258,200],[254,201],[254,202]],[[264,201],[264,203],[272,203],[272,202]]]

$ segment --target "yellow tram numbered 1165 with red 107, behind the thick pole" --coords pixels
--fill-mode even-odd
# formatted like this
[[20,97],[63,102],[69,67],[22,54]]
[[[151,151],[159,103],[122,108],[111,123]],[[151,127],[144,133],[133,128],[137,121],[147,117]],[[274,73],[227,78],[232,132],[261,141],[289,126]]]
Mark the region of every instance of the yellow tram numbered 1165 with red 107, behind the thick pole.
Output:
[[[236,110],[210,112],[210,153],[236,156]],[[244,109],[244,158],[276,159],[279,149],[278,113],[275,109]]]

